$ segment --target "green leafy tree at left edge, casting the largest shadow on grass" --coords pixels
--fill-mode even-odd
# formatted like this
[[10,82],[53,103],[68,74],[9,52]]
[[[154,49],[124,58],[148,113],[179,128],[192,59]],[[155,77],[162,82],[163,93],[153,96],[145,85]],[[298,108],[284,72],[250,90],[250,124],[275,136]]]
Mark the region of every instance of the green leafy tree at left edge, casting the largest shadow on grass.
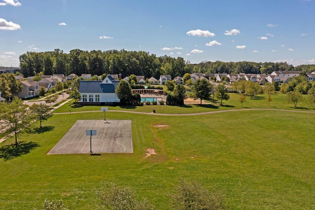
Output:
[[31,111],[27,105],[23,105],[21,99],[15,97],[10,104],[0,103],[0,124],[14,132],[15,146],[18,145],[18,131],[28,126],[31,120]]

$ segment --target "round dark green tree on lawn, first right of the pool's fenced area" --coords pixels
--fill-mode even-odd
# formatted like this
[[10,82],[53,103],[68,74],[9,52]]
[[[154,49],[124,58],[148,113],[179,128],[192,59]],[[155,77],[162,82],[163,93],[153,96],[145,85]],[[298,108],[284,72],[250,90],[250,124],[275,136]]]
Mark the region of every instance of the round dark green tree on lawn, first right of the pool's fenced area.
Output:
[[212,85],[205,79],[197,79],[197,81],[192,86],[193,93],[195,97],[200,100],[209,100],[211,98]]

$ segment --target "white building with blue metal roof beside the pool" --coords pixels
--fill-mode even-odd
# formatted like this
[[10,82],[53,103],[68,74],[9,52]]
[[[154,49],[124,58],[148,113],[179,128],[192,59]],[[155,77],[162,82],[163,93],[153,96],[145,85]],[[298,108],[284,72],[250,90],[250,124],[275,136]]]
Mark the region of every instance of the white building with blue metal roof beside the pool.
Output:
[[116,81],[111,75],[107,75],[103,81],[81,80],[79,92],[80,104],[108,105],[119,103],[115,90],[120,81]]

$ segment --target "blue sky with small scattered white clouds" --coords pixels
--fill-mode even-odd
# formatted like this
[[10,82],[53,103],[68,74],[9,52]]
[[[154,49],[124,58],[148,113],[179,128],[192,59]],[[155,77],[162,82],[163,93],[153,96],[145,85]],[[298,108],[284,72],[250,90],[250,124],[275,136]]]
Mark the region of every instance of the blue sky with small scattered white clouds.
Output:
[[315,0],[0,0],[0,66],[27,51],[315,64]]

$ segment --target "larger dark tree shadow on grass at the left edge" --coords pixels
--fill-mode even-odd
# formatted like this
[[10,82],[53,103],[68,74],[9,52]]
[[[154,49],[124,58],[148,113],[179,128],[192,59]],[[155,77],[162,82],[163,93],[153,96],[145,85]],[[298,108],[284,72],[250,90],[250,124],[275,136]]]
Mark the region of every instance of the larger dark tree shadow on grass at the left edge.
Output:
[[32,141],[19,141],[17,146],[15,146],[15,143],[3,145],[0,147],[0,158],[3,158],[4,161],[12,160],[30,153],[31,150],[39,146],[38,143]]

